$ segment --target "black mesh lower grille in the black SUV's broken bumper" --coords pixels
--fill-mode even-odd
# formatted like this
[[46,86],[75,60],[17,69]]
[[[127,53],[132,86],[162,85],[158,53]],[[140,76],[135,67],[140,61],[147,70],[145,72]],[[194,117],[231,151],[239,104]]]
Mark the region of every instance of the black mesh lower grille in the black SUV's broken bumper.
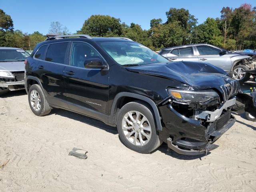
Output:
[[216,121],[212,122],[208,128],[207,133],[211,134],[212,132],[221,130],[227,122],[230,120],[231,110],[226,111],[222,116],[220,116]]

